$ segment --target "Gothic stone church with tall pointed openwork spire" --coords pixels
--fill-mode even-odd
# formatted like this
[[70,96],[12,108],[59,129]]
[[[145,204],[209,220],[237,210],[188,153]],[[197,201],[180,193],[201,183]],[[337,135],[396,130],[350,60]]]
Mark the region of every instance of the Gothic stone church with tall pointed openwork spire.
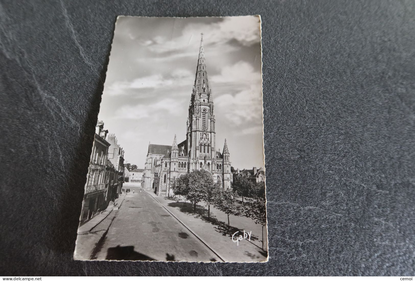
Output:
[[186,139],[172,145],[149,143],[143,173],[142,188],[159,196],[172,195],[170,183],[182,174],[206,170],[224,189],[231,187],[232,173],[226,143],[222,153],[216,143],[215,115],[212,90],[207,79],[203,37],[200,40],[198,65],[190,97]]

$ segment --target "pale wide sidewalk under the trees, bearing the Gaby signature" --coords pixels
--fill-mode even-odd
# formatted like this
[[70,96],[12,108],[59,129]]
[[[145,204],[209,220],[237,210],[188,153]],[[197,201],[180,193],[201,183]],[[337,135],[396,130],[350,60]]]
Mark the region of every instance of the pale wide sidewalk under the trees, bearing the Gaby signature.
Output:
[[[219,254],[226,262],[264,262],[266,254],[261,249],[262,226],[255,224],[247,217],[229,216],[230,226],[227,225],[227,215],[210,206],[210,220],[207,218],[207,206],[203,203],[197,205],[196,213],[193,213],[193,205],[189,202],[184,206],[183,202],[176,202],[162,196],[156,196],[151,191],[147,194],[153,196],[162,206],[173,214],[181,223],[186,225],[195,235]],[[247,239],[239,241],[239,245],[232,241],[234,237],[243,235],[243,230],[251,233],[251,241]]]

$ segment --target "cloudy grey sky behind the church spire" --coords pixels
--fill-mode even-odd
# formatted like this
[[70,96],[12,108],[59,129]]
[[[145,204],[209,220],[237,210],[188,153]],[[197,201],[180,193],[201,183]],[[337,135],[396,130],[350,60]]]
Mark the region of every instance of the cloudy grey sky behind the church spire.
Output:
[[149,142],[186,138],[203,32],[216,144],[235,168],[264,167],[259,17],[119,17],[99,120],[125,160],[144,168]]

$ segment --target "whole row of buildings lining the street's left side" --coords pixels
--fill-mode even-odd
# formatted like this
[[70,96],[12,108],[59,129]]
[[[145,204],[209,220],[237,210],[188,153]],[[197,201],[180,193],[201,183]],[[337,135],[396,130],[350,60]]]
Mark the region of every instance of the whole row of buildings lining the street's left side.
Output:
[[85,223],[105,210],[122,192],[124,181],[124,150],[117,143],[115,134],[104,130],[98,121],[85,184],[85,195],[80,222]]

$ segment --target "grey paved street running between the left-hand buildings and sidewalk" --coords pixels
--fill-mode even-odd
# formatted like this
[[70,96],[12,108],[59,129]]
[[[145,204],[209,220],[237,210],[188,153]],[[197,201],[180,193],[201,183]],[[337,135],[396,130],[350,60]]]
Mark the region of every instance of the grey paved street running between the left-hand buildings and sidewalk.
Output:
[[[98,260],[219,261],[220,259],[139,187],[127,194],[105,239],[95,247]],[[135,189],[135,193],[132,191]]]

